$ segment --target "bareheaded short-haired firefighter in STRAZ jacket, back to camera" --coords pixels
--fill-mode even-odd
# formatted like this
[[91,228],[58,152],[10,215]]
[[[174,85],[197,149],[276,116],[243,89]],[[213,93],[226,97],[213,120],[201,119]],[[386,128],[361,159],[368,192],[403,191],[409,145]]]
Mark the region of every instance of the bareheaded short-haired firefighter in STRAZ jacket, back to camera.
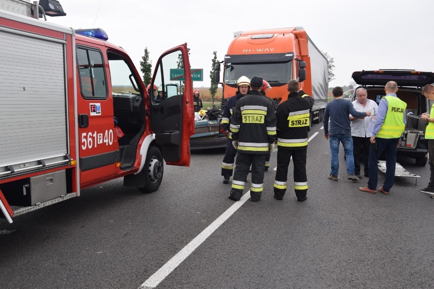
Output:
[[288,99],[276,110],[277,117],[277,171],[274,182],[274,198],[282,200],[286,192],[288,166],[292,157],[294,166],[294,190],[297,201],[307,199],[306,154],[310,121],[310,102],[302,97],[299,82],[290,80]]

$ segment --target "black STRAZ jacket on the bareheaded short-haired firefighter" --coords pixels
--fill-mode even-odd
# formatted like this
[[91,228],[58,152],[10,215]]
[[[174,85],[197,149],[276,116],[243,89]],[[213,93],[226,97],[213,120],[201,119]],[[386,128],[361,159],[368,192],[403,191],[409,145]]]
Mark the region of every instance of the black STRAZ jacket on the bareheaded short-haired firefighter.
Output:
[[310,102],[291,92],[277,107],[277,146],[279,149],[306,149],[310,121]]

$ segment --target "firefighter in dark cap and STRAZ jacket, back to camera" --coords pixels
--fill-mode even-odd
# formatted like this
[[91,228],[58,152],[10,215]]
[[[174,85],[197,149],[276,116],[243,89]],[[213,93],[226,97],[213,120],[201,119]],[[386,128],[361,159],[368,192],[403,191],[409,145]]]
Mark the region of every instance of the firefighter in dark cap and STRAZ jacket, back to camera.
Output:
[[250,197],[261,199],[265,156],[274,149],[276,141],[276,113],[274,105],[261,94],[262,78],[253,77],[250,93],[241,98],[231,117],[232,145],[237,149],[236,166],[229,199],[241,199],[252,166]]

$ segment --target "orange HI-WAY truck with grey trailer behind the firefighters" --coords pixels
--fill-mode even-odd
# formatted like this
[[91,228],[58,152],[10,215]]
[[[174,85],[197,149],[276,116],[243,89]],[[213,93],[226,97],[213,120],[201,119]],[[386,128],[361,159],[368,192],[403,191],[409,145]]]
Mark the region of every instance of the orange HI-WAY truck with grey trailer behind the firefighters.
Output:
[[[220,63],[223,63],[222,82]],[[314,99],[311,123],[322,121],[329,87],[328,63],[303,27],[235,32],[220,63],[215,66],[215,80],[223,86],[223,103],[235,95],[236,81],[243,75],[266,80],[272,86],[266,95],[276,104],[287,99],[288,81],[298,79],[300,89]]]

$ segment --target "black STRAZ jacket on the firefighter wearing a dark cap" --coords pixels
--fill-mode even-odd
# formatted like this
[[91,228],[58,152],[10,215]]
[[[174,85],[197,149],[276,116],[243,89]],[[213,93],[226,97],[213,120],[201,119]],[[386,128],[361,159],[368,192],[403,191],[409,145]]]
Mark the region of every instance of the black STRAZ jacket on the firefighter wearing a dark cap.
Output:
[[232,139],[238,141],[238,152],[267,154],[269,144],[276,140],[274,105],[259,91],[250,91],[237,102],[229,127]]

